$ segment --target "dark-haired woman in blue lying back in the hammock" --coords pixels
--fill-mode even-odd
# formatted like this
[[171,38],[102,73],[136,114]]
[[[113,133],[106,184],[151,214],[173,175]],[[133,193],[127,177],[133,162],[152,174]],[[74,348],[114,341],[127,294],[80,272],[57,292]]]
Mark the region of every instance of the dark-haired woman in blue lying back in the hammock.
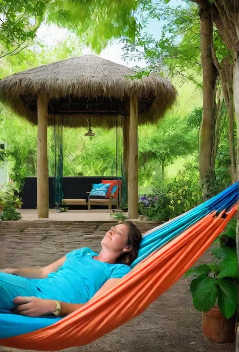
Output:
[[125,221],[106,232],[99,255],[85,247],[44,268],[0,270],[0,309],[66,316],[130,272],[141,239],[137,227]]

